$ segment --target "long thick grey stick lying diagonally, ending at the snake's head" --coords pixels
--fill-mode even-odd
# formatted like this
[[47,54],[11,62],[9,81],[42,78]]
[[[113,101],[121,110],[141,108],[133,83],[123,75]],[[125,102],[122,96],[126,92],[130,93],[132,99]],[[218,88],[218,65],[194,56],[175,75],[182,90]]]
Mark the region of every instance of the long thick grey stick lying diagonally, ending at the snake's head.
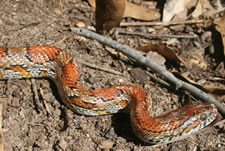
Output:
[[136,60],[137,62],[146,65],[153,71],[159,73],[162,75],[165,79],[167,79],[169,82],[174,83],[176,85],[176,88],[183,88],[189,92],[191,92],[194,96],[198,97],[199,99],[210,102],[216,105],[218,110],[221,112],[222,115],[225,116],[225,107],[222,105],[219,101],[217,101],[212,96],[209,96],[207,93],[203,92],[202,90],[196,88],[195,86],[186,83],[182,80],[177,79],[171,72],[167,71],[163,66],[155,63],[154,61],[142,56],[140,53],[136,52],[134,49],[130,48],[127,45],[120,44],[119,42],[116,42],[112,39],[106,38],[102,35],[99,35],[95,32],[92,32],[87,29],[83,28],[71,28],[73,32],[75,32],[78,35],[95,39],[99,41],[100,43],[107,45],[109,47],[112,47],[123,54],[127,55],[128,57]]

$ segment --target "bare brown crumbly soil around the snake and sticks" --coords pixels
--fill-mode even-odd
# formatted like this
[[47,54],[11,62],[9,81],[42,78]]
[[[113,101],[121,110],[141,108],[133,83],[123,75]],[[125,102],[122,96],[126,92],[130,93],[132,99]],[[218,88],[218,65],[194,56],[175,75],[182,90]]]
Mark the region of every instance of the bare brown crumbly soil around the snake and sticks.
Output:
[[[81,64],[81,79],[90,89],[120,84],[143,87],[153,99],[154,115],[183,106],[187,103],[186,100],[191,100],[191,103],[197,101],[186,93],[157,84],[145,74],[145,67],[125,56],[103,47],[94,40],[75,35],[70,27],[73,27],[76,21],[83,21],[89,27],[94,27],[94,9],[86,1],[5,0],[0,1],[0,16],[1,47],[56,46],[71,53],[78,62],[80,60],[123,74],[115,75]],[[192,29],[191,26],[188,28]],[[201,29],[197,32],[200,35],[205,31]],[[118,39],[131,47],[168,40],[149,40],[125,35],[120,35]],[[195,47],[195,41],[179,41],[178,53],[188,56],[187,50]],[[206,56],[206,59],[210,66],[205,70],[193,68],[190,71],[192,77],[195,80],[215,75],[224,77],[223,71],[215,70],[220,60],[212,59],[211,56]],[[170,65],[168,68],[180,70],[176,65]],[[54,83],[47,79],[0,81],[0,96],[3,104],[2,130],[6,151],[225,150],[224,125],[191,135],[184,140],[152,147],[133,134],[129,114],[99,117],[77,115],[64,106]],[[219,100],[224,101],[221,98]]]

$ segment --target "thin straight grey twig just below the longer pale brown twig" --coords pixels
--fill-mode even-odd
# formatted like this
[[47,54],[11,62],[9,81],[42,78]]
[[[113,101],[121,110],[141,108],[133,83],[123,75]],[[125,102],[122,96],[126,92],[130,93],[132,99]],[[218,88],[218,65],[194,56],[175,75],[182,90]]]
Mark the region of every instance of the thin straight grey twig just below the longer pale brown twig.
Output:
[[118,34],[142,36],[145,38],[197,38],[195,35],[168,35],[168,34],[149,34],[143,32],[118,31]]

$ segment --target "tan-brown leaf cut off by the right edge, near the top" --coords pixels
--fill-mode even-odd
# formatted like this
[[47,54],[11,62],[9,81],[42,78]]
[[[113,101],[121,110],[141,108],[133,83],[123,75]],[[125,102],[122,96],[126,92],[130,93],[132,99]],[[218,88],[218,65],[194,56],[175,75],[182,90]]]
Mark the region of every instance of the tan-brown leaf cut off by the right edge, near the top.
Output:
[[225,11],[223,12],[223,18],[216,23],[216,30],[220,32],[223,41],[223,52],[225,56]]

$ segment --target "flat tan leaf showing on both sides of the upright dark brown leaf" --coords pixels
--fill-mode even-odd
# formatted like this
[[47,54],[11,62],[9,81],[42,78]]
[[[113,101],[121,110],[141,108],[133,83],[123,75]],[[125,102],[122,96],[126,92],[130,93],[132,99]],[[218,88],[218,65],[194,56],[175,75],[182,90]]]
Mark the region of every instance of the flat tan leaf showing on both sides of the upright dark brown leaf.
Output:
[[[92,7],[96,7],[95,0],[88,0],[88,2]],[[149,21],[159,19],[161,16],[158,11],[149,10],[133,3],[126,2],[125,13],[123,17],[131,17],[138,20]]]

